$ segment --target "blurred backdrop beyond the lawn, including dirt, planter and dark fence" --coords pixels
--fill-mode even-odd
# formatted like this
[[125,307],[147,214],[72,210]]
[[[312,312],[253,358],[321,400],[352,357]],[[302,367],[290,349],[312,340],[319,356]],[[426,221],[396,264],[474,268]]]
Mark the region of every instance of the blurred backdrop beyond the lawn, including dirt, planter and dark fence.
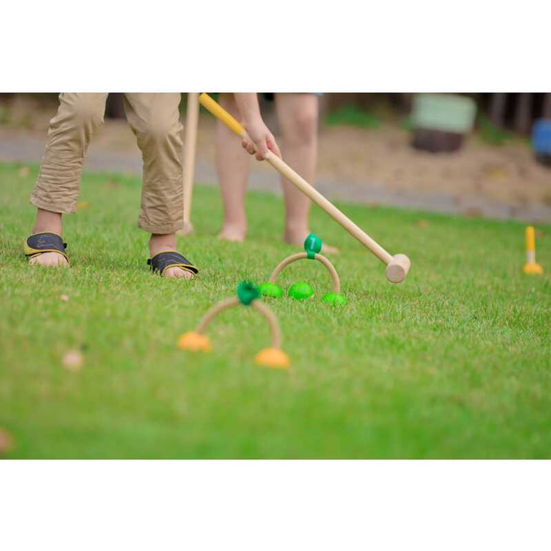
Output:
[[[273,103],[260,102],[277,136]],[[57,104],[54,93],[0,94],[0,162],[40,163]],[[199,185],[216,185],[215,126],[202,111]],[[85,170],[141,173],[122,94],[110,94]],[[371,206],[551,222],[551,93],[324,94],[316,186]],[[250,187],[280,193],[262,163],[253,163]]]

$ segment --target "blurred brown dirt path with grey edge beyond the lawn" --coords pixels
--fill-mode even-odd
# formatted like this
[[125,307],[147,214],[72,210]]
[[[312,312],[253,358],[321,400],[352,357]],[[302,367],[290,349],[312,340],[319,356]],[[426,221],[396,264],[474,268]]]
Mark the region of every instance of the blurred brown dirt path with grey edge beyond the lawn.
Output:
[[[0,161],[40,163],[48,118],[34,129],[0,126]],[[493,147],[473,137],[455,154],[432,155],[409,146],[409,134],[384,124],[375,131],[322,127],[316,185],[335,200],[392,205],[467,216],[551,222],[551,170],[528,145]],[[202,115],[196,181],[216,185],[214,120]],[[124,121],[106,121],[85,161],[87,171],[141,174],[134,135]],[[251,189],[280,194],[271,167],[252,163]]]

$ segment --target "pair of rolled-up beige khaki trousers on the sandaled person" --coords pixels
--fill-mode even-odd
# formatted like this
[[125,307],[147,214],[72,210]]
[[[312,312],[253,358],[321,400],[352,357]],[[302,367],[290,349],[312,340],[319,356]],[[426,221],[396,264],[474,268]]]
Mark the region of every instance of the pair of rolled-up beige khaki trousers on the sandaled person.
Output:
[[[76,211],[84,156],[103,123],[107,93],[59,94],[48,141],[30,202],[52,212]],[[127,121],[143,157],[138,226],[173,233],[183,226],[182,125],[180,94],[125,94]]]

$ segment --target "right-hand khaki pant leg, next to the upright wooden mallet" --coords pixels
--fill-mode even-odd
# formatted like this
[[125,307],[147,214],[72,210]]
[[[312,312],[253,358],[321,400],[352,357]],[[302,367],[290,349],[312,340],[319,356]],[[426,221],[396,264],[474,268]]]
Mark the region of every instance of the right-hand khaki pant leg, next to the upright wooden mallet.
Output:
[[125,94],[125,110],[143,157],[138,226],[149,233],[183,227],[180,94]]

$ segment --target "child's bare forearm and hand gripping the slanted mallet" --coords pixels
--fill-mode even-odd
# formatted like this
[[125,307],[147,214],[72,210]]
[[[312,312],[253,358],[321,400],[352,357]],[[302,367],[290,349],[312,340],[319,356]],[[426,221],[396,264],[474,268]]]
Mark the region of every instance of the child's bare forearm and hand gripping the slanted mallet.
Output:
[[264,160],[268,151],[281,157],[278,144],[269,131],[268,127],[262,121],[260,107],[258,106],[258,97],[255,93],[234,94],[238,110],[241,115],[241,121],[250,140],[245,138],[241,145],[247,149],[251,155],[256,154],[258,160]]

